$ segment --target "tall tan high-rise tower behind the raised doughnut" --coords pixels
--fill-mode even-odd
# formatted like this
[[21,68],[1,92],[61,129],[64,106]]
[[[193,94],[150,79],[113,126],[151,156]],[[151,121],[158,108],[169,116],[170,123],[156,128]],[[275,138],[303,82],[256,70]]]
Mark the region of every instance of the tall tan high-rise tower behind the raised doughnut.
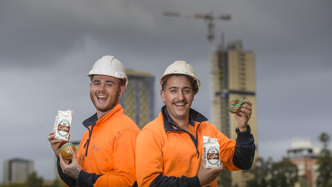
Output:
[[[214,53],[213,57],[214,81],[214,121],[213,123],[228,138],[236,139],[235,128],[237,122],[234,114],[228,111],[228,103],[235,97],[243,97],[253,104],[252,115],[249,120],[251,133],[254,135],[257,147],[257,113],[256,113],[256,81],[255,55],[251,51],[242,49],[242,41],[227,44],[227,48]],[[255,158],[257,158],[257,149]],[[246,186],[246,178],[242,171],[231,172],[232,186]]]

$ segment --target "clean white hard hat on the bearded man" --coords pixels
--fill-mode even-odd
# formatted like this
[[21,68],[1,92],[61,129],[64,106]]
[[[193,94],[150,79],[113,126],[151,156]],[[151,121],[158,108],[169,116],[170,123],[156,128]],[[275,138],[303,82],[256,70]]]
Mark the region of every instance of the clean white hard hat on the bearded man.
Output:
[[87,74],[90,78],[92,75],[107,75],[118,79],[125,79],[127,86],[128,78],[125,74],[124,65],[113,56],[104,56],[99,59],[92,67],[92,70]]

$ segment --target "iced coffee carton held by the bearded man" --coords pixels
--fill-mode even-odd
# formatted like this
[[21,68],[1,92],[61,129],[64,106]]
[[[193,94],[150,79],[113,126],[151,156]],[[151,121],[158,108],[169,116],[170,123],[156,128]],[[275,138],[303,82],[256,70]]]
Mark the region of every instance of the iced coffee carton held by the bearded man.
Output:
[[54,134],[56,139],[62,139],[68,141],[69,129],[71,125],[71,118],[73,117],[73,111],[58,111],[54,122]]

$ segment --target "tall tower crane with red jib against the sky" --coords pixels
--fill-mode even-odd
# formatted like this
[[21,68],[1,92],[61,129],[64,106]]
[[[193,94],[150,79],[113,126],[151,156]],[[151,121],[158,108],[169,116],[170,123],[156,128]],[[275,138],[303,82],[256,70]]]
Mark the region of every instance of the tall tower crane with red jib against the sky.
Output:
[[[214,53],[214,20],[223,20],[228,21],[231,19],[230,14],[224,14],[221,16],[213,16],[213,13],[210,14],[194,14],[193,16],[189,15],[181,15],[180,12],[164,12],[164,16],[169,17],[179,17],[179,18],[193,18],[193,19],[203,19],[205,22],[207,22],[207,40],[209,41],[209,53],[210,53],[210,104],[214,105],[214,92],[213,92],[213,75],[215,74],[215,69],[213,68],[213,53]],[[222,36],[223,37],[223,36]],[[222,39],[223,40],[223,39]],[[214,108],[214,107],[213,107]],[[210,119],[213,119],[214,112],[210,112],[211,116]],[[213,121],[212,121],[213,122]]]

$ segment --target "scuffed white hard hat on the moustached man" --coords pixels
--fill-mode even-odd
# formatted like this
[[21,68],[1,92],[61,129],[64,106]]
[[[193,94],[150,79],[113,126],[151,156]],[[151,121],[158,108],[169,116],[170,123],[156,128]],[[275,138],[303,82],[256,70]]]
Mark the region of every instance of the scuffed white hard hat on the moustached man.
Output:
[[177,75],[177,74],[185,75],[186,77],[189,76],[193,79],[194,87],[196,87],[193,89],[196,95],[200,90],[201,82],[198,79],[194,68],[189,64],[187,64],[185,61],[175,61],[173,64],[169,65],[166,68],[164,75],[161,76],[161,78],[159,79],[160,89],[162,89],[163,84],[167,81],[167,79],[165,80],[165,78],[167,78],[170,75]]

